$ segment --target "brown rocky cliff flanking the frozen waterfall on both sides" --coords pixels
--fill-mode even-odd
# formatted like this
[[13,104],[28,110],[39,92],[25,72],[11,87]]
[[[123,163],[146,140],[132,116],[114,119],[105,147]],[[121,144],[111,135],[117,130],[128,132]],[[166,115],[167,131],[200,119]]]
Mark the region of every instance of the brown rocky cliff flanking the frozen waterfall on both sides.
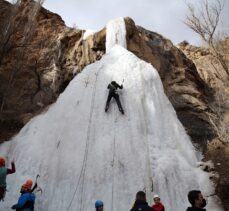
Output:
[[[218,145],[210,146],[220,142],[212,122],[218,124],[215,93],[227,90],[225,73],[216,77],[207,71],[207,50],[200,53],[204,60],[195,59],[198,50],[188,50],[187,45],[177,48],[161,35],[136,26],[132,19],[125,21],[127,48],[158,70],[165,92],[193,142],[205,151],[206,159],[222,164],[216,165],[216,170],[223,179],[216,182],[226,206],[228,172],[221,173],[225,165],[215,156]],[[87,38],[84,33],[66,27],[60,16],[33,1],[12,6],[0,0],[0,142],[7,141],[53,103],[86,65],[102,57],[106,28]],[[226,149],[224,145],[219,147],[220,152]],[[228,159],[227,155],[225,150]]]

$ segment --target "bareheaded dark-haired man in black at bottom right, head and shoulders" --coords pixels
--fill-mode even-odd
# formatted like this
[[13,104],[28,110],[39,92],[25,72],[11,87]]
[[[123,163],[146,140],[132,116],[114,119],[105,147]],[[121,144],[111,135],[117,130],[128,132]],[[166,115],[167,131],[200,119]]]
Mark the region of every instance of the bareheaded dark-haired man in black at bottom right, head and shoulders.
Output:
[[203,209],[206,206],[206,200],[201,191],[191,190],[188,193],[188,200],[192,207],[188,207],[186,211],[206,211],[206,209]]

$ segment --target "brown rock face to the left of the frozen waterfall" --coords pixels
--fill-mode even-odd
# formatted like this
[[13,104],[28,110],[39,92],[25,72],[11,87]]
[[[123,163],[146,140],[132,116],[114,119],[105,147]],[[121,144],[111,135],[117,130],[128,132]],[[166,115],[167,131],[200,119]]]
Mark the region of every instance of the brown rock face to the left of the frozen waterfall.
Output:
[[53,103],[75,74],[101,58],[105,30],[83,39],[33,1],[0,0],[0,142]]

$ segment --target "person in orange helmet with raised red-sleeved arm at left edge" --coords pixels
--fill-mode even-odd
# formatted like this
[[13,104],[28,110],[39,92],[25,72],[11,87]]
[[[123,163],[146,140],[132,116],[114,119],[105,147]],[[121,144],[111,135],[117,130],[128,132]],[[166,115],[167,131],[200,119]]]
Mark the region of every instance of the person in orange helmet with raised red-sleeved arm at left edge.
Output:
[[14,161],[11,162],[11,169],[5,167],[5,158],[0,157],[0,201],[4,200],[6,193],[6,176],[15,173]]

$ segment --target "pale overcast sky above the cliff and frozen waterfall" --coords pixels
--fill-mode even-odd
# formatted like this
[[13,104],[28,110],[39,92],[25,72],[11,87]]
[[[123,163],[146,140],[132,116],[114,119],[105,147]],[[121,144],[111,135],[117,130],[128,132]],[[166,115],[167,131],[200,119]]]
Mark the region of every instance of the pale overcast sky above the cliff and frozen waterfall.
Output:
[[[200,44],[199,37],[184,25],[185,0],[45,0],[44,7],[58,13],[66,25],[99,30],[113,18],[129,16],[137,25],[158,32],[174,43],[187,40]],[[191,0],[189,0],[191,1]],[[194,4],[201,0],[192,0]],[[215,0],[213,0],[215,1]],[[225,0],[223,20],[229,20]]]

